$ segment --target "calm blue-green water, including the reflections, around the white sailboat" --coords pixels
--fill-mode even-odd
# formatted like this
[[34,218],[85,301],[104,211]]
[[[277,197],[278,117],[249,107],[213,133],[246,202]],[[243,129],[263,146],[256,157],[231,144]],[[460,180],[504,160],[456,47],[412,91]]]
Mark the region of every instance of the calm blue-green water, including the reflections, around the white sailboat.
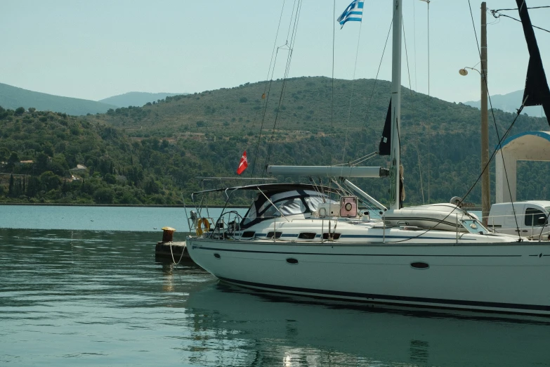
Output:
[[550,318],[249,292],[155,259],[161,236],[1,228],[0,365],[550,366]]

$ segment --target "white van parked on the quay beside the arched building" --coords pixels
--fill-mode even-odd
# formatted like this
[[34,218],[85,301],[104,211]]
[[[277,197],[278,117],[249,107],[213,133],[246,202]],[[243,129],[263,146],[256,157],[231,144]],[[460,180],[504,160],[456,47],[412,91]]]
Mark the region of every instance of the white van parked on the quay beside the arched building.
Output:
[[[493,204],[487,226],[498,233],[507,233],[538,240],[548,240],[550,201],[530,200]],[[514,215],[515,213],[515,215]]]

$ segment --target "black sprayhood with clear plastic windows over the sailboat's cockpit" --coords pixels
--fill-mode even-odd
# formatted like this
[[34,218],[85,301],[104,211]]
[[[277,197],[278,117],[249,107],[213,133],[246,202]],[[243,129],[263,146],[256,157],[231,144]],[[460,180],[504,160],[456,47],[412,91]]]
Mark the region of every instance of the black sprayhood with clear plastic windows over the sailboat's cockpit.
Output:
[[307,216],[315,212],[323,202],[337,203],[328,195],[313,190],[292,190],[265,195],[259,193],[241,222],[241,228],[249,228],[260,221],[275,217],[295,214]]

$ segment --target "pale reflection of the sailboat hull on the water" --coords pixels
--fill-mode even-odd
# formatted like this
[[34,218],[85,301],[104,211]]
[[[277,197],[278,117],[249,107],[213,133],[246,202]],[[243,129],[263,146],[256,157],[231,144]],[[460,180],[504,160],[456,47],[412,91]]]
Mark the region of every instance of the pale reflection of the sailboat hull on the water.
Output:
[[190,292],[202,366],[550,366],[550,319],[341,304],[213,283]]

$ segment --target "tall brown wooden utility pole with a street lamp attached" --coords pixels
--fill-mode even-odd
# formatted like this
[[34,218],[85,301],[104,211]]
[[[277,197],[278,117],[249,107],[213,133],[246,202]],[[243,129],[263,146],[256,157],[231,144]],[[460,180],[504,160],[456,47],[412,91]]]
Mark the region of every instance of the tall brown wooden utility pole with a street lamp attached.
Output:
[[[481,169],[489,162],[489,129],[487,127],[487,3],[481,3]],[[491,205],[489,167],[481,176],[481,215],[485,226]]]

